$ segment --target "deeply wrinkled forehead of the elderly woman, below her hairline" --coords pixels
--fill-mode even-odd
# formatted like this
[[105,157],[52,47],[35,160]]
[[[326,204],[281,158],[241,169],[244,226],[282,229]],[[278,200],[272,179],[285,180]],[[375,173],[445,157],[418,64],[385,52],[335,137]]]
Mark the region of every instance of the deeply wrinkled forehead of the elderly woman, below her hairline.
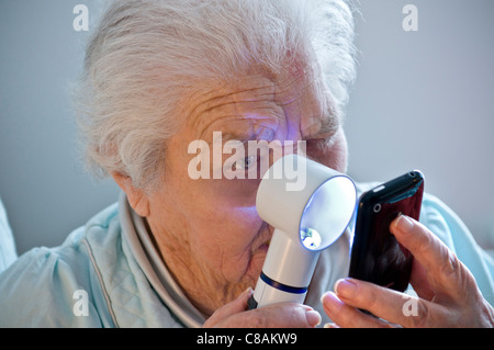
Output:
[[239,139],[300,139],[338,124],[321,70],[293,60],[283,71],[257,68],[235,79],[200,82],[186,103],[186,128]]

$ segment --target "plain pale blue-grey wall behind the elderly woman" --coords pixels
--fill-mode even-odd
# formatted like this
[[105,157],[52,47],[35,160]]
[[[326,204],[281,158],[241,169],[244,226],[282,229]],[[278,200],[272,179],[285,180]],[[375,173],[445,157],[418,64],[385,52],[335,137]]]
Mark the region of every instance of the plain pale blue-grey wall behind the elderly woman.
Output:
[[[494,247],[494,2],[360,2],[349,173],[385,181],[423,170],[427,191]],[[117,196],[78,156],[67,93],[88,35],[72,29],[78,3],[92,21],[96,0],[0,2],[0,196],[21,253],[59,245]],[[406,3],[418,9],[418,32],[402,27]]]

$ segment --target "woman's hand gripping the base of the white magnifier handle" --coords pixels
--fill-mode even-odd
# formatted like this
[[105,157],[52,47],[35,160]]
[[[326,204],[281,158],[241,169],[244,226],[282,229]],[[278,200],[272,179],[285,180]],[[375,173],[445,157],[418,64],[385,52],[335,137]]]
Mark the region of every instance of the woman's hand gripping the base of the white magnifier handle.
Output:
[[280,303],[247,311],[251,289],[235,301],[220,307],[203,327],[233,328],[312,328],[321,324],[321,315],[312,307],[301,304]]

